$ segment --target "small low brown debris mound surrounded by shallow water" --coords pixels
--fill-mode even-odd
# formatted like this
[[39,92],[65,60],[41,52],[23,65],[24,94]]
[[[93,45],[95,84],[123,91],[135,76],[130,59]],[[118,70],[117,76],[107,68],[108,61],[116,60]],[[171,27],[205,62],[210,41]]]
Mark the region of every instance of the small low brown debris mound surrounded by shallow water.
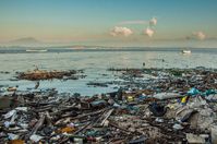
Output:
[[65,79],[65,80],[77,80],[79,77],[84,77],[85,75],[75,75],[77,73],[83,73],[82,70],[69,70],[69,71],[46,71],[46,70],[34,70],[27,72],[17,72],[16,79],[19,80],[51,80],[51,79]]

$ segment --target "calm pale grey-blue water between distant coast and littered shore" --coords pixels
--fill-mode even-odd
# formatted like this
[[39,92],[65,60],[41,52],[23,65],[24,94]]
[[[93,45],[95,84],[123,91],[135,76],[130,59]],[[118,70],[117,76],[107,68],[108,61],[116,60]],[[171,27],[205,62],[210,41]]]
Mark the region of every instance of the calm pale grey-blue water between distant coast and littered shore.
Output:
[[[164,60],[162,60],[164,59]],[[41,81],[39,88],[57,88],[60,93],[93,95],[114,91],[109,87],[87,86],[88,82],[110,82],[117,80],[108,68],[217,68],[217,49],[192,49],[191,55],[182,55],[180,49],[129,48],[129,49],[48,49],[46,52],[26,52],[24,48],[0,49],[0,85],[19,89],[33,88],[35,82],[10,81],[16,71],[23,72],[38,65],[43,70],[84,70],[87,76],[81,80]]]

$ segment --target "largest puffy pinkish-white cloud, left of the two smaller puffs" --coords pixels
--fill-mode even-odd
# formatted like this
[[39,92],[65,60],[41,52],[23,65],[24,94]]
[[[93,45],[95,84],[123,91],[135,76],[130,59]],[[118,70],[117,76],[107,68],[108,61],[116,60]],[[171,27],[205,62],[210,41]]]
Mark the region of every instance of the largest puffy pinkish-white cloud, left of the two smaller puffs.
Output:
[[110,31],[110,35],[112,36],[130,36],[132,35],[133,32],[128,28],[128,27],[119,27],[119,26],[114,26],[111,31]]

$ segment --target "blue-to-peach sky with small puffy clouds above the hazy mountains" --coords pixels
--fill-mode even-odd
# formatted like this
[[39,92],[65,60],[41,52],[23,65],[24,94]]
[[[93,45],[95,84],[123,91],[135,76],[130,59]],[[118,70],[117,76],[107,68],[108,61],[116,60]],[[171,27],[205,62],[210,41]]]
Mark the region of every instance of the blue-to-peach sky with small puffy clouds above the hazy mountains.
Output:
[[217,0],[0,0],[0,43],[209,45],[216,13]]

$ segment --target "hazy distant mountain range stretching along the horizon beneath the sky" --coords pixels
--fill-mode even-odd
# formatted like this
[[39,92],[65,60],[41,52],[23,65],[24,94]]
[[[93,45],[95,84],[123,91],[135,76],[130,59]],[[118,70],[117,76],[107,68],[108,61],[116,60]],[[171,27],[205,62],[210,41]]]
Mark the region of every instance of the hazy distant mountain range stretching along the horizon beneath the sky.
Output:
[[57,41],[40,41],[34,37],[24,37],[14,39],[8,43],[0,43],[0,48],[17,48],[23,47],[26,49],[35,48],[69,48],[69,49],[101,49],[101,48],[132,48],[132,47],[194,47],[194,48],[217,48],[217,38],[207,37],[204,40],[196,39],[155,39],[152,43],[138,41],[133,44],[124,44],[123,41],[118,43],[105,43],[105,41],[69,41],[69,43],[57,43]]

